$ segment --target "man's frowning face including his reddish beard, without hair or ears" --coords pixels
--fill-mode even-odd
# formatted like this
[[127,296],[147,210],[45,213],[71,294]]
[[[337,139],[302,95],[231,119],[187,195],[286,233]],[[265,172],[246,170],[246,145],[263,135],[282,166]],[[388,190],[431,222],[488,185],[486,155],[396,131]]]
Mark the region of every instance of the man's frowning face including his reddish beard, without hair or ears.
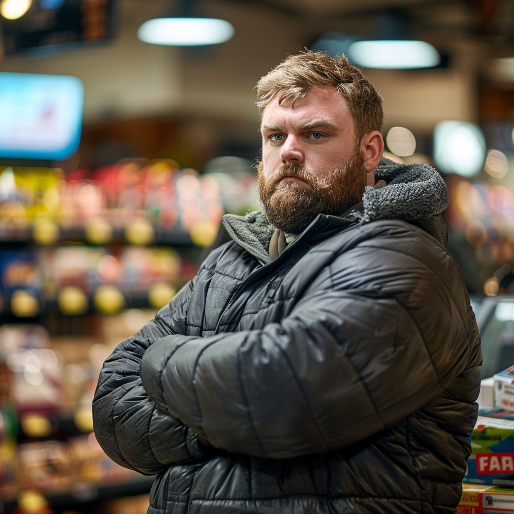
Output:
[[366,171],[336,88],[314,88],[293,104],[275,98],[261,132],[259,193],[274,226],[298,234],[319,213],[341,214],[361,199]]

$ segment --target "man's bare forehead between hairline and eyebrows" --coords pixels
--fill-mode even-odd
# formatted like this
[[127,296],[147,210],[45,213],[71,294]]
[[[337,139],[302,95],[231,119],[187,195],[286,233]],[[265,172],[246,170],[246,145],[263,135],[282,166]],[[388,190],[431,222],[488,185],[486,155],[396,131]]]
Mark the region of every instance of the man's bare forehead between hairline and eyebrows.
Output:
[[315,87],[301,99],[279,103],[278,95],[265,107],[262,125],[326,119],[340,128],[353,126],[350,107],[335,87]]

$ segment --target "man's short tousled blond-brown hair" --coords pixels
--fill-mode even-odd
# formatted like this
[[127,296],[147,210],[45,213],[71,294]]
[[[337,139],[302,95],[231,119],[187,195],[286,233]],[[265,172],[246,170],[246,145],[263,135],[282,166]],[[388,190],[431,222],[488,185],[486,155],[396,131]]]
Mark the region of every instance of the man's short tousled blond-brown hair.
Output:
[[314,87],[335,87],[346,101],[354,118],[357,141],[364,134],[382,131],[382,98],[373,84],[359,68],[340,59],[328,57],[323,52],[304,51],[289,56],[256,85],[257,105],[264,108],[279,95],[279,103],[295,102],[303,98]]

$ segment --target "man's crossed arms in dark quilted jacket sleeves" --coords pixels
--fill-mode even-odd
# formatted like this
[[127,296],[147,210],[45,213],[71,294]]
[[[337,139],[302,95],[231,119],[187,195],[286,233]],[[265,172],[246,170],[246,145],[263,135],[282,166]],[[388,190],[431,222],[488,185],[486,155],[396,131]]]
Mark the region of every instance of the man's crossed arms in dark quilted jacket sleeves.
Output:
[[[332,266],[280,323],[211,337],[186,335],[200,270],[106,360],[93,404],[99,443],[152,474],[212,455],[198,435],[216,449],[289,458],[397,423],[463,370],[467,331],[440,278],[395,259],[401,295],[348,288],[347,269]],[[432,291],[429,305],[416,287]]]

